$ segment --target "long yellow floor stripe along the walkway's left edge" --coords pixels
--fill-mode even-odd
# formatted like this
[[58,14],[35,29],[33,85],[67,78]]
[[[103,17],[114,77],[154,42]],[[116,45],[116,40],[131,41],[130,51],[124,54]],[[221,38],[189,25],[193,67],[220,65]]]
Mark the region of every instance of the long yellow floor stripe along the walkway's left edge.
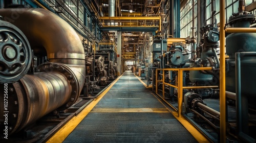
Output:
[[[122,75],[121,75],[122,76]],[[47,142],[63,142],[66,137],[76,128],[83,118],[93,109],[93,107],[103,98],[111,87],[121,78],[119,76],[106,90],[104,90],[97,98],[94,99],[86,108],[84,108],[77,116],[74,116],[66,125],[57,131]]]

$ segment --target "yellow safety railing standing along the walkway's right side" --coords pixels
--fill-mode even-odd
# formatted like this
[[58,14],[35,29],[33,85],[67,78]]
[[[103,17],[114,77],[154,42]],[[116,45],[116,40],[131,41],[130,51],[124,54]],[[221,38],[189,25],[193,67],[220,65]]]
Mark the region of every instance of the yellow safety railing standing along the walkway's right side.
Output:
[[[178,116],[181,116],[182,112],[182,101],[183,101],[183,89],[199,89],[199,88],[219,88],[219,86],[183,86],[183,71],[187,70],[211,70],[212,67],[193,67],[193,68],[157,68],[156,69],[156,93],[158,92],[158,83],[163,84],[162,87],[162,99],[164,99],[164,86],[168,85],[178,89]],[[164,81],[164,71],[178,71],[178,86],[166,83]],[[162,79],[158,80],[158,71],[162,71]],[[159,94],[158,94],[159,95]]]

